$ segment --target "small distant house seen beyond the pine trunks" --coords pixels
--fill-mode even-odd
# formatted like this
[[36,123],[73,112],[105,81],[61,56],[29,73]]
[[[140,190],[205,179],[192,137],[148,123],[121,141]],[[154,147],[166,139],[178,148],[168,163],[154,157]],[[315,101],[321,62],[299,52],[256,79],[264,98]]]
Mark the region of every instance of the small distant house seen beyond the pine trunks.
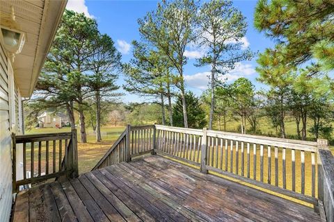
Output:
[[40,128],[61,128],[68,123],[65,114],[55,112],[43,112],[38,117],[38,126]]

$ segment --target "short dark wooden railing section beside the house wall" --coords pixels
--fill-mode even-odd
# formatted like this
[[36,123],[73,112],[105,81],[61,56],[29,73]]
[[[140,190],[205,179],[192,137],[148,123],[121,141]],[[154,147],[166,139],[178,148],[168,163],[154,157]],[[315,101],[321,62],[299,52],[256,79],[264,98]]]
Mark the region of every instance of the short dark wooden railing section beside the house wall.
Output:
[[[12,139],[13,192],[17,192],[19,186],[22,185],[61,176],[75,177],[78,175],[76,130],[69,133],[13,134]],[[18,152],[19,148],[22,148],[22,152]],[[22,163],[17,162],[18,153],[22,154]],[[17,172],[17,164],[23,164],[23,172]],[[23,178],[17,180],[17,175],[22,174]]]

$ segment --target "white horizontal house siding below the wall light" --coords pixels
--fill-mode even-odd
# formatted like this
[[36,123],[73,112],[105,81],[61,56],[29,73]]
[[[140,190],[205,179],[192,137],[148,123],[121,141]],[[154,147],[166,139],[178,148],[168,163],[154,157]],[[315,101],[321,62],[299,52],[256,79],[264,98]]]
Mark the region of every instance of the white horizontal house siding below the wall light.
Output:
[[8,103],[8,62],[0,44],[0,221],[8,221],[12,205],[12,159]]

